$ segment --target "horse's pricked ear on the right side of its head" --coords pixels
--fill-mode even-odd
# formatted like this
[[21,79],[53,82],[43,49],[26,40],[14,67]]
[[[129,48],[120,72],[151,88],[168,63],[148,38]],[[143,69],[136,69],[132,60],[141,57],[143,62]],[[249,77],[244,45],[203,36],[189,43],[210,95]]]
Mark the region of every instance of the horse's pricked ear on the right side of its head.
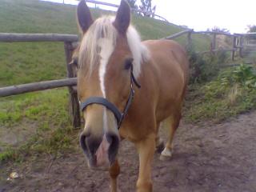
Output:
[[114,26],[120,34],[126,34],[130,26],[130,6],[126,0],[121,1],[117,16],[114,20]]

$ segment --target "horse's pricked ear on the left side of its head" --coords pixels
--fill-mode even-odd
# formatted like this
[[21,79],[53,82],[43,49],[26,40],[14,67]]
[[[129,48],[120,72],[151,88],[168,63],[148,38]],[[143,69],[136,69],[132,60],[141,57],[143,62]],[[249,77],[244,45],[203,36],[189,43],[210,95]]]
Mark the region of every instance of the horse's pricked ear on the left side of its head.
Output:
[[83,33],[86,33],[86,30],[89,29],[91,24],[93,24],[94,20],[91,17],[89,7],[86,5],[86,2],[84,0],[81,0],[78,3],[78,24],[82,30]]

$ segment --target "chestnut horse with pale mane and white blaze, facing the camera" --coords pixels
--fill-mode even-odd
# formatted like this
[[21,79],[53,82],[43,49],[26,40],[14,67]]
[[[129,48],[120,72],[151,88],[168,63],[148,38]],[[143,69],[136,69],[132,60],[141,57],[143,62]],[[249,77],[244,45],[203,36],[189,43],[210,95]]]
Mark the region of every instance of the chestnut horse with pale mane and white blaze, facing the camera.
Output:
[[188,82],[186,51],[170,40],[141,42],[122,0],[116,17],[93,20],[86,2],[78,4],[82,41],[78,48],[78,98],[85,127],[80,145],[88,166],[109,170],[117,191],[119,142],[134,142],[139,155],[137,191],[152,191],[151,163],[158,129],[170,122],[161,157],[170,158]]

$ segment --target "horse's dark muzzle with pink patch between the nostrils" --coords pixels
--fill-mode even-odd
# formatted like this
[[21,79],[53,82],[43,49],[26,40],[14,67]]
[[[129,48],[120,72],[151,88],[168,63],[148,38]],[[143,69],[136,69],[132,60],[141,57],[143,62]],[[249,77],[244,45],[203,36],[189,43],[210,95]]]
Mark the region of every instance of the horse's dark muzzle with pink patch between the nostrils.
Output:
[[84,132],[80,135],[80,145],[91,168],[110,167],[118,154],[119,142],[118,135],[113,133],[106,133],[100,138]]

